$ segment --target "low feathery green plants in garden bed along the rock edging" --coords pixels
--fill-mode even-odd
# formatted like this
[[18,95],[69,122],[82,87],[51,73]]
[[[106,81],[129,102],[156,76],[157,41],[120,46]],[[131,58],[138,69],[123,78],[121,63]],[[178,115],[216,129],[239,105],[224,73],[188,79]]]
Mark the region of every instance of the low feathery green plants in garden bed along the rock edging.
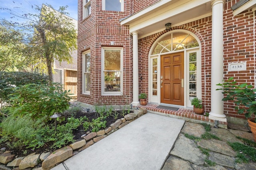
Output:
[[6,117],[0,125],[2,131],[0,144],[6,143],[11,149],[19,149],[24,145],[26,149],[30,150],[45,145],[48,145],[49,149],[60,148],[74,142],[72,130],[77,129],[87,118],[68,118],[67,123],[57,126],[56,132],[54,124],[46,125],[44,119],[34,121],[28,115],[24,115],[24,117]]

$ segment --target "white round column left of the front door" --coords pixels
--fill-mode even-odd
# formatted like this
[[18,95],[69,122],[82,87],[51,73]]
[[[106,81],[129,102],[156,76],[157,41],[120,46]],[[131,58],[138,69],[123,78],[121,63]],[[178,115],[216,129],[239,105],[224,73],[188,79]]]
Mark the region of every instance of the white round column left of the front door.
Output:
[[139,102],[138,32],[132,32],[132,106]]

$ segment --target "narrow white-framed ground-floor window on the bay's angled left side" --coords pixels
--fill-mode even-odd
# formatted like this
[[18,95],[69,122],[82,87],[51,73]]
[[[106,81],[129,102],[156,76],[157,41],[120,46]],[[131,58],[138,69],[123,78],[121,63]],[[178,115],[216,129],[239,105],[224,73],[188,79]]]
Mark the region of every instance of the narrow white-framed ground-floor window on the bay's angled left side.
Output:
[[83,53],[83,73],[82,73],[82,93],[83,94],[90,94],[90,58],[91,53],[90,51],[86,51]]

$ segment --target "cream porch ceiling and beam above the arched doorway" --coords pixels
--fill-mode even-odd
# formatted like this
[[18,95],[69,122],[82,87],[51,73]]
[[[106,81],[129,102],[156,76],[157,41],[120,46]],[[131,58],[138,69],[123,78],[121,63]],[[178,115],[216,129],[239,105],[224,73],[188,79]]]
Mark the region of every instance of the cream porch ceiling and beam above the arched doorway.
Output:
[[139,38],[165,29],[166,23],[178,26],[212,15],[211,0],[161,0],[152,6],[120,21],[129,25],[130,32],[138,31]]

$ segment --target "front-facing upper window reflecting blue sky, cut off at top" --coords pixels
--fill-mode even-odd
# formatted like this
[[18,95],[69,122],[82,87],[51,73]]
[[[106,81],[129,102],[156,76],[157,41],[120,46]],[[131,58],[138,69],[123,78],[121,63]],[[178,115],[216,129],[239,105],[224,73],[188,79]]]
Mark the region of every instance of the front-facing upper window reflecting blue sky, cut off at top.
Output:
[[102,0],[102,10],[124,12],[124,0]]

